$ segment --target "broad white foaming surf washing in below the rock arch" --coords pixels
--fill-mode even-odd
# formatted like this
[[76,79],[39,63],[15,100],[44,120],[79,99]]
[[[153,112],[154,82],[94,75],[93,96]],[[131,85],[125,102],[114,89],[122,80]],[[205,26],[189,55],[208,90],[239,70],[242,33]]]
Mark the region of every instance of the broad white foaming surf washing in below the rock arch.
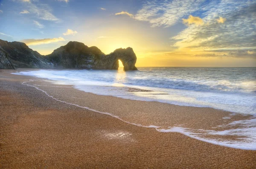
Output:
[[[163,70],[166,71],[166,69]],[[211,74],[208,74],[208,76],[203,76],[207,80],[203,80],[203,77],[200,77],[201,74],[181,76],[181,72],[180,77],[175,77],[177,74],[169,76],[168,72],[157,71],[125,73],[122,71],[96,70],[40,70],[14,74],[56,80],[54,82],[56,84],[73,85],[76,89],[97,95],[158,101],[180,106],[211,107],[249,115],[256,114],[256,93],[253,92],[256,90],[256,83],[249,80],[249,77],[248,80],[237,80],[238,82],[236,82],[225,79],[211,79],[208,77]],[[159,73],[162,73],[161,76]],[[108,88],[105,86],[108,86]],[[123,90],[125,87],[146,89],[153,92],[129,92]]]

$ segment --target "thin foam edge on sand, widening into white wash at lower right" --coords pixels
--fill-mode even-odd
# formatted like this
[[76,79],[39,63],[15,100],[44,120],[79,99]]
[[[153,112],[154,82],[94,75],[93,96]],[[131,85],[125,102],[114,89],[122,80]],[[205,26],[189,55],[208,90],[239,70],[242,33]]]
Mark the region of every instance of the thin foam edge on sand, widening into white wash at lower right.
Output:
[[[41,92],[44,92],[48,97],[51,97],[52,99],[54,99],[56,101],[59,101],[61,103],[66,103],[66,104],[69,104],[69,105],[78,106],[78,107],[83,108],[83,109],[87,109],[87,110],[90,110],[90,111],[93,111],[93,112],[97,112],[97,113],[101,113],[101,114],[105,114],[105,115],[110,115],[111,117],[115,117],[115,118],[117,118],[119,120],[122,120],[120,117],[118,117],[116,115],[113,115],[111,113],[108,113],[108,112],[100,112],[100,111],[98,111],[96,109],[90,109],[89,107],[86,107],[86,106],[79,106],[77,104],[68,103],[66,101],[58,100],[55,97],[49,95],[44,90],[39,89],[37,86],[31,85],[31,84],[27,84],[27,82],[31,82],[31,81],[34,81],[34,80],[29,80],[29,81],[23,82],[22,84],[34,87],[35,89],[38,89]],[[62,87],[62,86],[59,86],[59,87]],[[247,139],[237,140],[237,141],[236,140],[231,140],[231,141],[228,141],[228,140],[217,140],[217,139],[214,140],[214,139],[204,138],[204,137],[200,136],[201,133],[192,132],[191,129],[183,128],[183,127],[174,126],[174,127],[169,127],[168,129],[160,129],[161,126],[154,126],[154,125],[144,126],[142,124],[131,123],[131,122],[128,122],[126,120],[122,120],[122,121],[125,122],[125,123],[128,123],[128,124],[135,125],[135,126],[146,127],[146,128],[154,128],[158,132],[178,132],[178,133],[181,133],[183,135],[195,138],[197,140],[205,141],[207,143],[212,143],[212,144],[216,144],[216,145],[220,145],[220,146],[227,146],[227,147],[236,148],[236,149],[256,150],[256,135],[255,135],[255,133],[256,133],[256,126],[252,127],[253,125],[255,125],[255,123],[254,123],[255,120],[256,119],[239,120],[239,121],[234,121],[234,122],[228,124],[228,126],[242,124],[242,125],[246,126],[245,129],[231,129],[231,130],[224,130],[224,131],[218,131],[218,132],[213,131],[213,130],[208,130],[208,131],[207,130],[203,130],[203,129],[198,130],[201,133],[202,132],[207,132],[208,135],[238,135],[238,136],[247,137]],[[252,124],[252,123],[254,123],[254,124]],[[121,134],[122,135],[120,135],[120,133],[118,133],[116,135],[118,137],[122,137],[122,136],[126,135],[127,133],[126,134],[121,133]],[[111,137],[112,137],[112,135],[111,135]]]

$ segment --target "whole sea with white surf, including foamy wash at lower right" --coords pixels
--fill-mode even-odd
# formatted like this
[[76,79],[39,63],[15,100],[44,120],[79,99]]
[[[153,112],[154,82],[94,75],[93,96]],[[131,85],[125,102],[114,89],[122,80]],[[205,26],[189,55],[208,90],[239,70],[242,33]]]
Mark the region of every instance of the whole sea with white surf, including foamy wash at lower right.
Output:
[[[244,137],[244,139],[240,138],[233,142],[206,139],[200,137],[199,132],[177,126],[158,130],[181,132],[190,137],[223,146],[256,149],[255,67],[139,67],[138,69],[139,71],[130,72],[42,69],[15,74],[47,78],[54,80],[52,83],[73,85],[76,89],[97,95],[157,101],[180,106],[210,107],[234,114],[251,115],[252,118],[248,120],[228,124],[228,126],[232,126],[234,123],[239,124],[242,126],[239,129],[208,131],[208,134],[211,135],[240,135]],[[152,125],[158,126],[158,124]]]

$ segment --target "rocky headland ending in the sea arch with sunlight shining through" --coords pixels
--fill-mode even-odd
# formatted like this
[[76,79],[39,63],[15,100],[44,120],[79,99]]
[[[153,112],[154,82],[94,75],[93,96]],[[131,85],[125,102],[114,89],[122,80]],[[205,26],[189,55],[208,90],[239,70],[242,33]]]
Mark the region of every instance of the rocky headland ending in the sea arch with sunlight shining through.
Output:
[[133,49],[116,49],[111,54],[104,54],[96,46],[88,47],[84,43],[70,41],[65,46],[55,49],[46,56],[56,68],[77,69],[115,69],[119,67],[121,60],[124,70],[137,70],[137,60]]

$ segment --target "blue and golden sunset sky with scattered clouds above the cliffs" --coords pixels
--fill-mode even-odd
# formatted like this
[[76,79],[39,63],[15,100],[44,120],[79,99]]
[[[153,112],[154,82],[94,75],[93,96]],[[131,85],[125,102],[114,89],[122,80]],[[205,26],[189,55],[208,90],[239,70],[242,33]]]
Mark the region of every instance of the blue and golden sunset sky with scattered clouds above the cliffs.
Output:
[[69,41],[136,66],[256,66],[256,0],[0,0],[0,39],[50,54]]

